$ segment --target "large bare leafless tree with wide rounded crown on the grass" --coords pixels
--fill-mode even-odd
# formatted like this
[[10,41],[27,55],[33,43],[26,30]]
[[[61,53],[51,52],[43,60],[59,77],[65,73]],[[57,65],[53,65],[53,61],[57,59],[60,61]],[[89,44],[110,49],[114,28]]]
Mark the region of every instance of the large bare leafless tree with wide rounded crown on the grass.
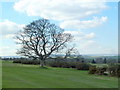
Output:
[[40,65],[45,65],[45,60],[55,51],[62,50],[72,39],[71,34],[47,19],[33,21],[18,32],[16,39],[22,48],[17,54],[40,60]]

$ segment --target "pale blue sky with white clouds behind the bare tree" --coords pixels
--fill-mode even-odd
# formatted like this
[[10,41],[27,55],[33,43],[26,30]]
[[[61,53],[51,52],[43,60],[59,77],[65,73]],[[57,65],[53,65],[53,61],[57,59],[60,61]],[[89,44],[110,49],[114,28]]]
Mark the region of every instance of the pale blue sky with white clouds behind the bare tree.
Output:
[[118,2],[1,0],[0,56],[15,56],[15,33],[40,18],[71,33],[80,54],[118,54]]

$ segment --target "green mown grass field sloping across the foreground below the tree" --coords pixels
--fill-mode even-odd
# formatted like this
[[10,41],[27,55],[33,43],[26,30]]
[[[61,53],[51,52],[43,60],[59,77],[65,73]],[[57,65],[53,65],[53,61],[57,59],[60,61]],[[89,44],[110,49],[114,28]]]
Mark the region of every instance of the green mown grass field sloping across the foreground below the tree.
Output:
[[116,77],[89,75],[70,68],[39,68],[37,65],[3,61],[3,88],[118,88]]

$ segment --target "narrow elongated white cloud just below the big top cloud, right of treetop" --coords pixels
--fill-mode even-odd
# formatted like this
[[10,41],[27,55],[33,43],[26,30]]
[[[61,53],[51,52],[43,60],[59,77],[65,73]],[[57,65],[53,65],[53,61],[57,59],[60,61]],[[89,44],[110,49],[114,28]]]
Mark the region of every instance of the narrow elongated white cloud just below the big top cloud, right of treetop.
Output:
[[68,29],[86,29],[97,27],[107,21],[107,17],[93,17],[92,20],[80,21],[80,20],[69,20],[64,21],[60,24],[61,28]]

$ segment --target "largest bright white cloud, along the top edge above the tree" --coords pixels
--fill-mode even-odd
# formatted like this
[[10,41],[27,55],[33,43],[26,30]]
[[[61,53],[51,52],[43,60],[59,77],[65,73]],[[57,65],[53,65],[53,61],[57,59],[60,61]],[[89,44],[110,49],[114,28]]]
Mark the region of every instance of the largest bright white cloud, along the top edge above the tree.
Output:
[[[103,1],[103,2],[102,2]],[[97,14],[107,8],[105,0],[19,0],[14,9],[28,16],[52,20],[76,20]]]

